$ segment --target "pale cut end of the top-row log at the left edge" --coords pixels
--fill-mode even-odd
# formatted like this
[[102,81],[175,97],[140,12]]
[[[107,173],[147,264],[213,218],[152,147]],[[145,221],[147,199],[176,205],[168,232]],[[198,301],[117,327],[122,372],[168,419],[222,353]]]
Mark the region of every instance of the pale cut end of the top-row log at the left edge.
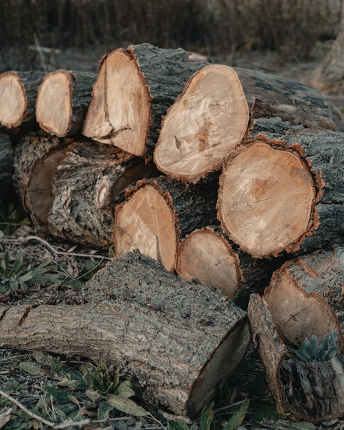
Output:
[[25,88],[14,71],[0,75],[0,124],[13,128],[19,126],[27,113]]

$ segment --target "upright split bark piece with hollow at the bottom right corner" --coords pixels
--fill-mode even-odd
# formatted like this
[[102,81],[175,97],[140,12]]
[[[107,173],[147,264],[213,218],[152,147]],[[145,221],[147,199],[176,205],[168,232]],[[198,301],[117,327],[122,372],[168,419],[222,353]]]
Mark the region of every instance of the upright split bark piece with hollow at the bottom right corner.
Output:
[[[309,320],[302,319],[305,326],[310,326],[310,320],[315,321],[318,317],[314,310],[319,307],[312,309]],[[343,347],[329,361],[290,362],[265,299],[252,294],[248,315],[253,343],[260,354],[278,411],[289,420],[306,422],[330,421],[343,416]],[[319,326],[317,322],[316,326]]]

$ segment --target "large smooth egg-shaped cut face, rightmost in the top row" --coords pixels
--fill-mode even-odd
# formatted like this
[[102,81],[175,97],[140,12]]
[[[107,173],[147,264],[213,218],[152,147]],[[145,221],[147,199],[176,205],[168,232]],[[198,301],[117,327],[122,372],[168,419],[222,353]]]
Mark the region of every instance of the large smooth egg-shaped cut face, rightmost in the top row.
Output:
[[207,65],[185,84],[163,119],[154,161],[171,177],[196,182],[218,170],[244,137],[249,108],[236,72]]

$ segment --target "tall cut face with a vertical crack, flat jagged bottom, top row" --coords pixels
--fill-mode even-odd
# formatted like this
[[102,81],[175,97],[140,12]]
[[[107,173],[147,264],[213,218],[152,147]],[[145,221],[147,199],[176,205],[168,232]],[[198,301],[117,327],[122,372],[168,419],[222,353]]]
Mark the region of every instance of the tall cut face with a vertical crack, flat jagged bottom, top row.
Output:
[[144,76],[133,55],[116,49],[100,63],[82,133],[144,155],[149,124],[150,93]]

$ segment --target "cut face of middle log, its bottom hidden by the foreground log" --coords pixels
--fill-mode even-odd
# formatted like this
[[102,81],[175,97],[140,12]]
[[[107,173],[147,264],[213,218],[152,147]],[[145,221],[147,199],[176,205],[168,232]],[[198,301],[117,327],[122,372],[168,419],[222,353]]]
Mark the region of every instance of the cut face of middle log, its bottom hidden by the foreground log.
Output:
[[174,269],[174,214],[152,185],[139,188],[130,199],[117,206],[114,242],[117,257],[139,249],[161,262],[168,271]]

